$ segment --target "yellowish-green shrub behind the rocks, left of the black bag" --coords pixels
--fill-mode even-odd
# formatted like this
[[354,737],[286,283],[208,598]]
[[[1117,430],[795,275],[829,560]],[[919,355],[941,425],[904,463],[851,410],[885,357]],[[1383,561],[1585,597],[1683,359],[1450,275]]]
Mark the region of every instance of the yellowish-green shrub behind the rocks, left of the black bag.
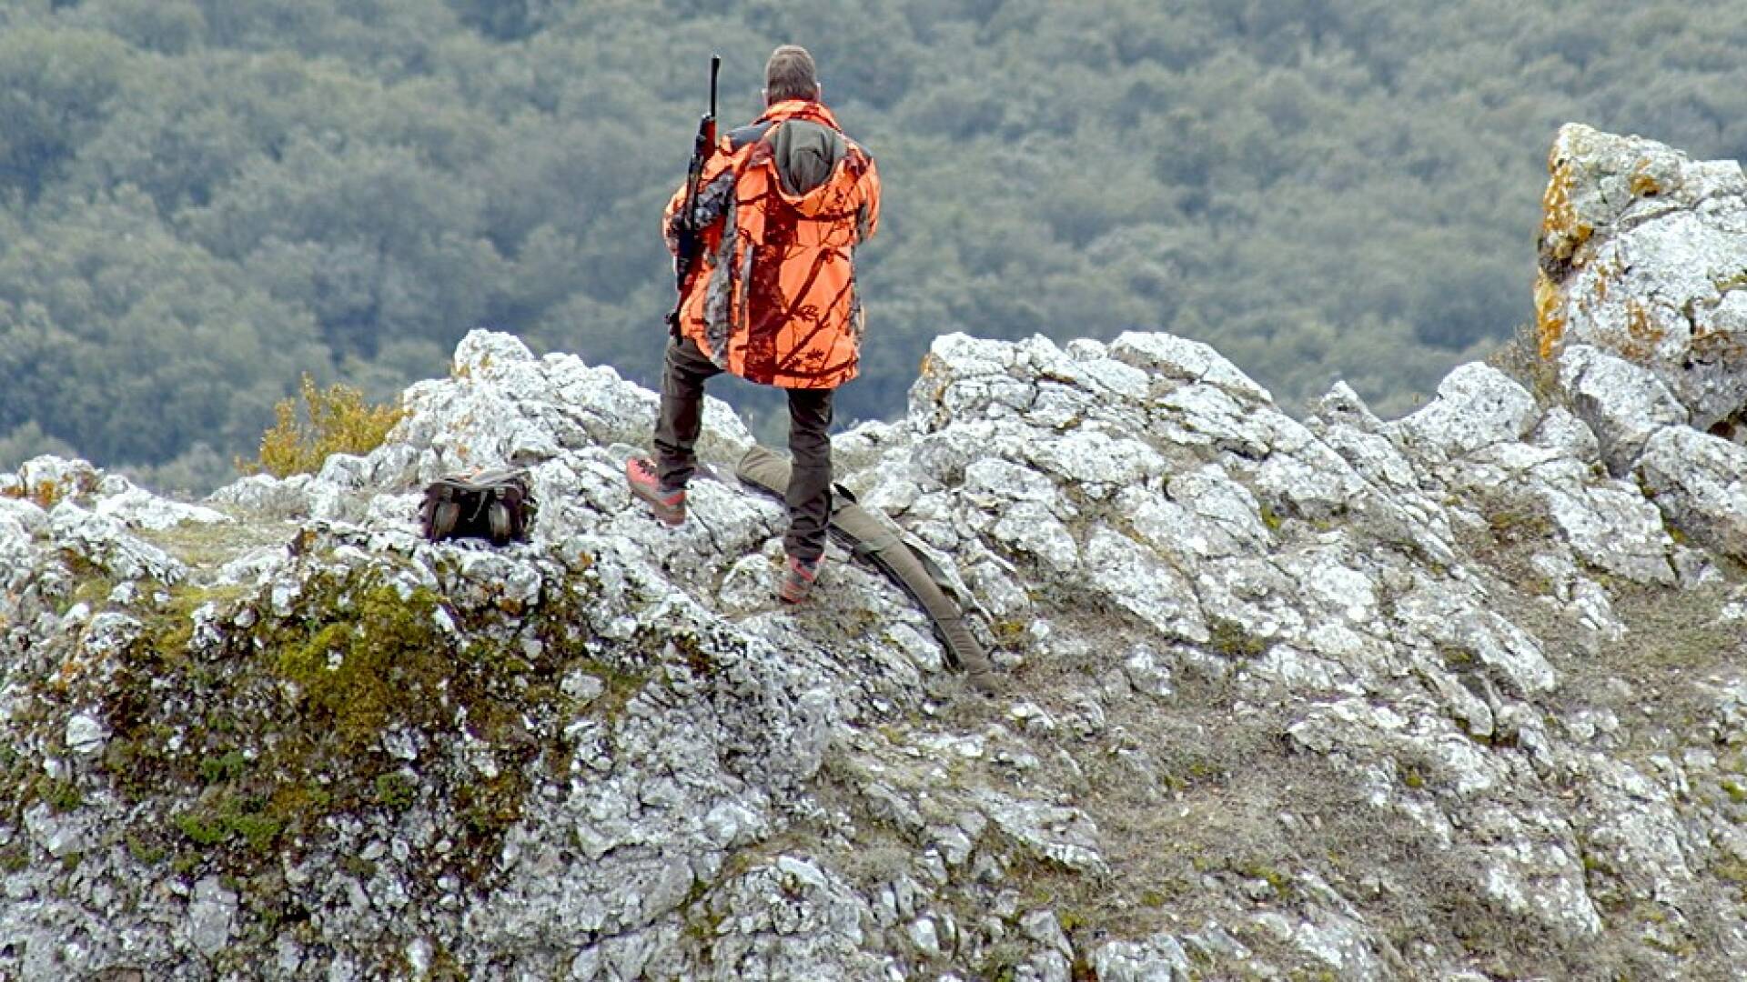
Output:
[[260,458],[238,460],[243,474],[313,474],[328,454],[367,454],[383,446],[388,432],[405,416],[397,405],[369,405],[355,388],[332,384],[327,391],[304,376],[302,418],[297,398],[285,398],[273,407],[276,423],[260,435]]

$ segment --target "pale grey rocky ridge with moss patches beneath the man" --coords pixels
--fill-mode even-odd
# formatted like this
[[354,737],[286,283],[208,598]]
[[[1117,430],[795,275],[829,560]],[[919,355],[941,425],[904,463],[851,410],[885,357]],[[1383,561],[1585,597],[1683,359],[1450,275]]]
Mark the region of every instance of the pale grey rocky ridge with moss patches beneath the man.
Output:
[[[653,393],[505,334],[316,475],[26,463],[0,977],[1730,977],[1747,182],[1583,128],[1551,169],[1544,358],[1398,421],[1162,334],[942,337],[839,467],[980,598],[994,699],[839,550],[781,608],[732,479],[650,521]],[[711,404],[720,474],[749,440]],[[498,463],[531,543],[418,538]]]

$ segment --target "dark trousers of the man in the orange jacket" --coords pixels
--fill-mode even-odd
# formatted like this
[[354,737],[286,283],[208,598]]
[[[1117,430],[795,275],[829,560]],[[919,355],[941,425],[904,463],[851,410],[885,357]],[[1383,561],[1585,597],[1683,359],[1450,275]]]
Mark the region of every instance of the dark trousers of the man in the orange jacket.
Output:
[[[655,418],[655,468],[666,489],[685,488],[697,472],[697,435],[704,426],[704,383],[722,369],[690,337],[667,341]],[[807,563],[825,552],[832,524],[832,393],[828,388],[788,391],[788,535],[783,549]]]

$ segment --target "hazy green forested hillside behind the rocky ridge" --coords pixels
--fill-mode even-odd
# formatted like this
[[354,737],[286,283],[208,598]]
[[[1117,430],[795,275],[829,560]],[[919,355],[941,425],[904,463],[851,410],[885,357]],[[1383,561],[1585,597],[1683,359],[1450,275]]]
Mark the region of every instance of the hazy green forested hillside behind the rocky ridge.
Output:
[[840,421],[952,330],[1406,412],[1527,320],[1562,122],[1747,157],[1738,0],[0,0],[0,467],[208,489],[480,325],[652,384],[708,56],[734,126],[779,42],[886,183]]

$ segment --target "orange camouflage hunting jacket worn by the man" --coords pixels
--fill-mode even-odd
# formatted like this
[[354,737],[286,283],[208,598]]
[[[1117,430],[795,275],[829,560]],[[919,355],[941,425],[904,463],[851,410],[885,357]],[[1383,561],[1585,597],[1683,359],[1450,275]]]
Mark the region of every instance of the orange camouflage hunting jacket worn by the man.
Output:
[[[781,135],[790,121],[816,126]],[[874,157],[842,136],[816,101],[776,103],[735,133],[756,138],[735,147],[734,135],[723,136],[699,180],[702,246],[680,328],[711,362],[748,381],[837,388],[856,377],[860,356],[865,316],[854,250],[879,225]],[[793,192],[795,171],[777,156],[809,136],[809,147],[825,147],[835,161],[823,183]],[[681,208],[683,185],[662,217],[669,250],[678,246]]]

